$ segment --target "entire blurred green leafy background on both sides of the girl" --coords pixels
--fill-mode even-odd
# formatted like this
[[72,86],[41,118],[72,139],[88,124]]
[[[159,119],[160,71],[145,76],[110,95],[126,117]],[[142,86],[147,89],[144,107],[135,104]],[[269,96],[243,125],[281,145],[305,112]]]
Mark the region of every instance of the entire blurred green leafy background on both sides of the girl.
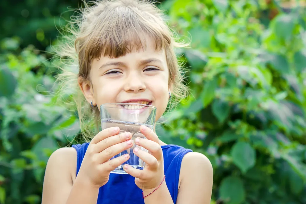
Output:
[[[0,203],[40,203],[50,154],[79,141],[58,102],[51,47],[79,0],[0,1]],[[214,168],[212,204],[306,203],[306,4],[290,0],[166,0],[191,48],[191,94],[156,132]],[[69,93],[67,94],[69,100]],[[201,189],[196,189],[201,191]]]

